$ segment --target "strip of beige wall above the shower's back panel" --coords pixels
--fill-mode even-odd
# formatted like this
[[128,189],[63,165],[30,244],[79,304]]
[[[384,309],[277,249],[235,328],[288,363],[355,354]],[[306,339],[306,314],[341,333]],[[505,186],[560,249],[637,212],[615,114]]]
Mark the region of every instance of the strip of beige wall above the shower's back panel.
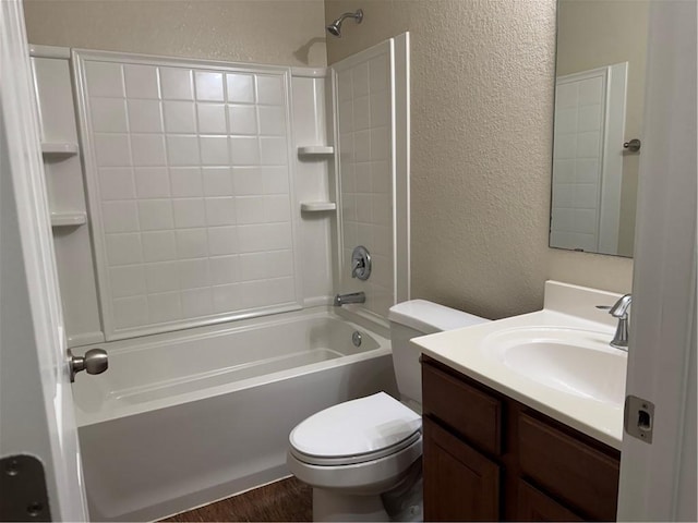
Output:
[[29,42],[325,65],[323,0],[24,0]]

